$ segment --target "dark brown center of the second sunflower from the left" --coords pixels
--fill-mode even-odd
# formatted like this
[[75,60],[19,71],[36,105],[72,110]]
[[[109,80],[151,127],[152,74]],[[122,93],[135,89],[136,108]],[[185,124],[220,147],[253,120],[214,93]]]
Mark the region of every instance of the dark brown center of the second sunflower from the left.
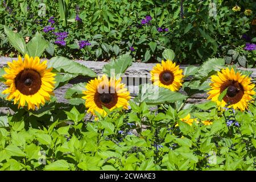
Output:
[[[102,106],[111,109],[117,104],[118,96],[117,93],[112,91],[115,90],[113,88],[109,88],[109,90],[104,90],[104,93],[96,93],[94,95],[95,104],[102,109]],[[110,92],[111,91],[111,92]]]

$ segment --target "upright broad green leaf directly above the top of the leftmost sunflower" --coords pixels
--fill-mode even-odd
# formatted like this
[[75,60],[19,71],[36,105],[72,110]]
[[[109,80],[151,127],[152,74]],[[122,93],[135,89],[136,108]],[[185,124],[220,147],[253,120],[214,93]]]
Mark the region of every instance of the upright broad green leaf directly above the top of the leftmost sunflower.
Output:
[[27,44],[27,52],[28,55],[35,57],[35,56],[42,56],[44,50],[48,47],[48,43],[44,40],[43,36],[36,32],[36,35],[32,40]]

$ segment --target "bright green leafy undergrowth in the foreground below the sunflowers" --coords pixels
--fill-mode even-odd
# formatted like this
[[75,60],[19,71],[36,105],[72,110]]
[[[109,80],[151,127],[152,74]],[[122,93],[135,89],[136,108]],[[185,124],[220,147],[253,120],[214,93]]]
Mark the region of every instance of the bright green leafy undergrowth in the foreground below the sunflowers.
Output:
[[[47,113],[1,116],[1,170],[254,170],[256,107],[226,125],[209,101],[177,111],[131,103],[98,121],[84,108],[56,105]],[[161,111],[158,113],[158,111]],[[181,122],[193,113],[199,123]],[[233,113],[233,112],[232,112]],[[64,117],[65,115],[65,117]],[[205,119],[212,125],[204,125]],[[178,123],[179,126],[175,126]]]

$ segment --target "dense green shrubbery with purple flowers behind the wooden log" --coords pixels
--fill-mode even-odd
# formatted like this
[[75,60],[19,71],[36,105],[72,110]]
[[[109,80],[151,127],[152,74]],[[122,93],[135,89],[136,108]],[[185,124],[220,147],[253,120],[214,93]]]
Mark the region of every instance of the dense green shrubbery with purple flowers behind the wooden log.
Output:
[[[246,43],[255,42],[253,0],[43,3],[2,1],[0,15],[5,17],[0,20],[2,55],[15,54],[3,33],[6,25],[27,41],[36,31],[43,34],[48,41],[44,55],[47,57],[104,60],[130,52],[136,60],[160,61],[163,49],[171,48],[176,60],[183,63],[202,63],[214,56],[225,57],[226,63],[239,63],[243,67],[253,67],[255,63],[255,51],[245,50]],[[42,5],[46,5],[46,16],[42,16],[43,8],[38,10]],[[233,9],[236,5],[240,11]],[[66,11],[63,7],[67,7]],[[60,38],[56,32],[68,34]]]

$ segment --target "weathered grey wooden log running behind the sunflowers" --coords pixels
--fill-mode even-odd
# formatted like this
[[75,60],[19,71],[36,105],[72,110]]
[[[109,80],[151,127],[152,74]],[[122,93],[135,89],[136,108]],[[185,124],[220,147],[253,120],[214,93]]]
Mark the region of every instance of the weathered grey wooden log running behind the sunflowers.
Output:
[[[7,61],[16,60],[16,58],[10,57],[0,57],[0,68],[6,67]],[[97,62],[97,61],[84,61],[84,60],[75,60],[77,63],[85,65],[88,68],[93,69],[97,74],[102,74],[101,70],[104,67],[106,62]],[[129,88],[132,97],[137,96],[139,92],[139,84],[149,83],[150,81],[150,71],[155,66],[156,63],[133,63],[131,67],[127,69],[125,72],[125,77],[123,77],[123,81]],[[199,65],[197,65],[199,66]],[[181,69],[188,67],[188,65],[180,65]],[[251,77],[253,77],[253,82],[255,82],[256,78],[256,69],[250,68],[239,68],[241,70],[252,71]],[[188,77],[185,81],[189,81],[191,79]],[[60,88],[54,91],[55,96],[57,97],[58,102],[68,103],[68,100],[64,98],[64,94],[67,89],[71,88],[73,84],[77,84],[79,82],[88,82],[90,80],[89,77],[78,76],[69,81],[68,84],[61,86]],[[5,89],[5,84],[0,82],[0,92]],[[185,94],[184,90],[180,90],[181,93]],[[201,103],[207,99],[207,93],[197,93],[194,94],[191,98],[187,100],[188,103]]]

